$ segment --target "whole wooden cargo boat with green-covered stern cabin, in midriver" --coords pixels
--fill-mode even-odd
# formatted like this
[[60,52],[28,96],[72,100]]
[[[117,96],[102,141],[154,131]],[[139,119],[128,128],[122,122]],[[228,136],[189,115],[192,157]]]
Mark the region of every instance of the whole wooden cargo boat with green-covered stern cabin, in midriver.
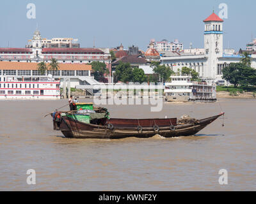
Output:
[[[52,113],[54,130],[60,130],[66,138],[118,139],[127,137],[150,138],[154,135],[161,135],[166,138],[193,136],[224,115],[224,113],[220,113],[202,120],[191,119],[188,116],[180,120],[177,118],[109,119],[108,110],[105,108],[93,108],[93,105],[88,103],[77,105],[80,110],[82,110],[81,106],[86,106],[86,108],[91,106],[90,110],[95,111],[95,113],[79,113],[77,110]],[[97,117],[100,114],[101,116]]]

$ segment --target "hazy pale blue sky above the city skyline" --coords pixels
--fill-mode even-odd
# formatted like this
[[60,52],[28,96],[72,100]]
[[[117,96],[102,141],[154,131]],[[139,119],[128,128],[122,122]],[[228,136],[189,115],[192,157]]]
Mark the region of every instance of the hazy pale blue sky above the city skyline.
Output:
[[[36,19],[26,17],[35,3]],[[147,49],[151,39],[179,39],[188,48],[204,47],[204,22],[219,4],[228,5],[224,19],[224,47],[245,48],[256,38],[255,0],[1,0],[0,47],[25,47],[36,24],[44,38],[74,37],[81,47]]]

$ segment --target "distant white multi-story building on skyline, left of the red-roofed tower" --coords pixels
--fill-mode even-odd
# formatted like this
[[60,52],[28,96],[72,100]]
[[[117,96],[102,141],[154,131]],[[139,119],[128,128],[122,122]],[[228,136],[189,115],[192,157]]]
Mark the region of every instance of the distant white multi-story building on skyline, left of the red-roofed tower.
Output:
[[162,40],[154,43],[154,48],[158,52],[163,51],[181,51],[183,50],[183,43],[180,43],[179,40],[174,40],[169,42],[168,40]]

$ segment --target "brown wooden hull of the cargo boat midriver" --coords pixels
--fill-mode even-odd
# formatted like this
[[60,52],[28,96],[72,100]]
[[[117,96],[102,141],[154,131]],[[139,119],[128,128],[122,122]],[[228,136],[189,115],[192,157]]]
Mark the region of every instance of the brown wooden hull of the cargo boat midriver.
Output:
[[[196,123],[184,125],[175,124],[173,126],[166,126],[166,124],[165,126],[153,126],[150,121],[157,123],[158,120],[158,122],[164,123],[164,120],[166,120],[165,122],[170,122],[172,120],[174,121],[174,119],[148,119],[152,126],[140,126],[141,129],[138,128],[139,126],[125,126],[124,124],[122,126],[122,122],[120,122],[120,124],[115,124],[115,121],[118,121],[118,119],[113,119],[112,122],[114,122],[114,124],[109,128],[109,126],[86,124],[64,116],[61,119],[58,130],[60,130],[66,138],[120,139],[129,137],[150,138],[155,135],[161,135],[165,138],[193,136],[223,114],[224,113],[221,113],[220,115],[209,117],[207,119],[198,120]],[[145,119],[145,121],[147,121],[147,119]],[[54,124],[54,129],[56,129],[56,124]]]

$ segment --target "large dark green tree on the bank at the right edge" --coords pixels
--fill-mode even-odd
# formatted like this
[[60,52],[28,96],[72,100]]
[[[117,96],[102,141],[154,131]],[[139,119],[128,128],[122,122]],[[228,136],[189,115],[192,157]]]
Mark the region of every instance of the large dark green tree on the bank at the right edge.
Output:
[[239,84],[244,87],[256,85],[256,71],[243,62],[230,63],[230,66],[223,68],[223,79],[234,87],[238,87]]

